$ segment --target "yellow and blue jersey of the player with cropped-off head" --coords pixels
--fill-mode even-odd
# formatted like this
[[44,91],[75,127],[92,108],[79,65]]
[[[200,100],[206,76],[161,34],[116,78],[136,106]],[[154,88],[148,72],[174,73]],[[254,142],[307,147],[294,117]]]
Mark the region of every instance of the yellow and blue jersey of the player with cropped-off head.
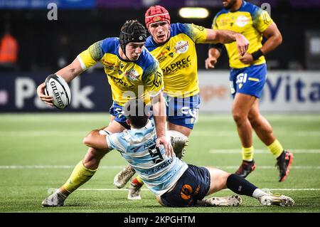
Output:
[[[262,48],[262,32],[272,23],[267,11],[260,9],[254,4],[242,1],[238,11],[231,12],[223,9],[213,19],[213,29],[230,30],[241,33],[250,42],[247,53],[253,53]],[[239,58],[237,43],[227,43],[229,64],[231,68],[245,68],[250,65],[242,63]],[[255,60],[253,65],[265,63],[265,57]]]

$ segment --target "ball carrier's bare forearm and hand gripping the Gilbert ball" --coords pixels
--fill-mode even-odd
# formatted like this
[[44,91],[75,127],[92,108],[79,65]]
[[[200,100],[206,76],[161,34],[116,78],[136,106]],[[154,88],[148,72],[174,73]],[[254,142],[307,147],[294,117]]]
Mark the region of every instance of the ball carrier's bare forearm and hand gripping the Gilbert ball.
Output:
[[[63,77],[63,79],[65,79],[67,83],[69,83],[71,80],[73,80],[73,78],[75,78],[77,75],[80,75],[80,73],[82,72],[83,70],[81,68],[80,61],[78,60],[78,58],[75,58],[75,60],[73,60],[73,63],[65,66],[65,68],[58,70],[58,72],[55,74],[60,75],[61,77]],[[41,101],[53,107],[53,97],[45,95],[45,88],[46,84],[44,82],[41,83],[41,85],[38,85],[37,95]]]

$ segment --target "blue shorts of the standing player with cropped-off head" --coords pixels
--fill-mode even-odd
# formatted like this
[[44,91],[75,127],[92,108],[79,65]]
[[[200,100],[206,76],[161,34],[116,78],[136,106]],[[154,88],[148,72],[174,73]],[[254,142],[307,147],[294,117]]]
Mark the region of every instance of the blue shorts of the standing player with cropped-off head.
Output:
[[267,79],[267,65],[251,65],[246,68],[232,68],[230,70],[230,92],[243,93],[260,98]]

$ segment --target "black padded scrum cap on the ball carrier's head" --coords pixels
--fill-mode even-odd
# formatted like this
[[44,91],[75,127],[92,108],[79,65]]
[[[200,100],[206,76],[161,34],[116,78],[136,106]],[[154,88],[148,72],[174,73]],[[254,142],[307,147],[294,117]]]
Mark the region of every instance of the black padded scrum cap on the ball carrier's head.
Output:
[[124,54],[128,43],[141,43],[146,41],[146,28],[137,20],[129,20],[121,28],[119,42]]

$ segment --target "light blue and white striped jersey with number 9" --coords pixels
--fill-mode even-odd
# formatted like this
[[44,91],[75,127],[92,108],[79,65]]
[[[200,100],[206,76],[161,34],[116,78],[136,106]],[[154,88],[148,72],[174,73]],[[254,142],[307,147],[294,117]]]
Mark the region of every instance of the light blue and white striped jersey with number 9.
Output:
[[156,147],[156,130],[151,120],[143,128],[110,134],[107,144],[120,152],[156,196],[171,189],[188,168],[176,156],[167,157],[163,145]]

